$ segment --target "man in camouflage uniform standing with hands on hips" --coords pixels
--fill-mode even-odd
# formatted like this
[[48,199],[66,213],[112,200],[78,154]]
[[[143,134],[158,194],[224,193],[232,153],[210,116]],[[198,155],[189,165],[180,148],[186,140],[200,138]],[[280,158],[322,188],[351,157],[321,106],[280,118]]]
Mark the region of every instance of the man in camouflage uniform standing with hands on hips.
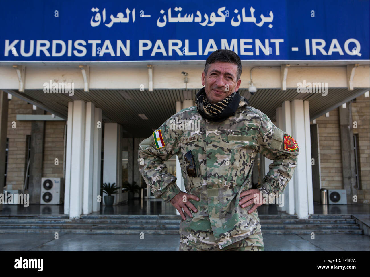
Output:
[[[171,202],[181,214],[179,250],[263,251],[256,210],[261,192],[282,193],[297,166],[296,141],[237,92],[241,72],[236,53],[213,52],[196,106],[171,116],[139,145],[144,180],[156,198]],[[262,184],[251,189],[257,152],[273,163]],[[164,164],[173,155],[180,161],[186,193]]]

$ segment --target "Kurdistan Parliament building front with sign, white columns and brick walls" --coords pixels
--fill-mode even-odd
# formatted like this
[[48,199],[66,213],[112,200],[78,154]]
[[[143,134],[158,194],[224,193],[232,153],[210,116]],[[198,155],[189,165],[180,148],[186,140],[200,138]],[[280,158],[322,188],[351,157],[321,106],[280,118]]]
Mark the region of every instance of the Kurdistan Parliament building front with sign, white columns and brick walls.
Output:
[[[307,218],[321,188],[369,203],[369,1],[357,2],[112,1],[71,10],[71,1],[58,8],[40,1],[22,9],[38,14],[42,5],[46,18],[31,21],[25,12],[33,23],[24,28],[7,4],[11,12],[0,14],[9,25],[0,36],[0,190],[27,190],[39,204],[42,178],[61,178],[64,213],[79,218],[100,209],[102,183],[140,186],[139,143],[194,106],[206,58],[230,49],[242,60],[240,94],[300,147],[282,211]],[[192,17],[181,17],[182,9]],[[349,28],[337,16],[344,11],[363,24]],[[270,163],[258,157],[253,182]],[[179,161],[167,164],[184,190]],[[120,191],[114,204],[124,200]]]

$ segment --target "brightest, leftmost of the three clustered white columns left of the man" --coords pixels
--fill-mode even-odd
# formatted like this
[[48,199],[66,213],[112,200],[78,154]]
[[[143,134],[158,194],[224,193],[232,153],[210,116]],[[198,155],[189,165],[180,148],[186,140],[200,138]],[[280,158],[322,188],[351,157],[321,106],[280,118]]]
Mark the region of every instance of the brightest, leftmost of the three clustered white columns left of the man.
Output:
[[82,193],[84,180],[85,151],[85,102],[73,102],[72,151],[70,179],[70,218],[80,218],[82,214]]

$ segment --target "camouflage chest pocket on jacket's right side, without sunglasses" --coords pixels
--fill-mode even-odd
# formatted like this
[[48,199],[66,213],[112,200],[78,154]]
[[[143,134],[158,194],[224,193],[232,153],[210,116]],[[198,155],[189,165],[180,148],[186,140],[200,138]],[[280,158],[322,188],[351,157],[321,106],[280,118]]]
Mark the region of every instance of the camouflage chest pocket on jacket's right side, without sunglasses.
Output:
[[239,150],[233,148],[231,151],[230,166],[227,184],[229,186],[242,186],[248,177],[250,167],[253,164],[253,149]]

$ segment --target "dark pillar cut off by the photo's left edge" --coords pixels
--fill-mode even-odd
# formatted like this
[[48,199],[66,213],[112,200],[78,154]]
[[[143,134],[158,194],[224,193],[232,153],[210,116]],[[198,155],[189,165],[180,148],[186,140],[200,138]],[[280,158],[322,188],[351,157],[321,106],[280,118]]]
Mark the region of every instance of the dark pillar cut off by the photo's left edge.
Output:
[[[0,90],[0,193],[4,193],[6,133],[8,128],[8,94]],[[0,211],[3,204],[0,203]]]

